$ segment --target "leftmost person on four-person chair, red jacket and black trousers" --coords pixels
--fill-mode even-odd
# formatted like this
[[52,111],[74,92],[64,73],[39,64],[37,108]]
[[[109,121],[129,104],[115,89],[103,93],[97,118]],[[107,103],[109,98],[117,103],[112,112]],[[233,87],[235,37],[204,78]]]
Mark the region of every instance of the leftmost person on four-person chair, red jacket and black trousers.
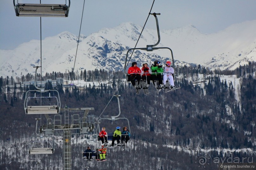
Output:
[[[129,80],[131,81],[133,87],[138,88],[137,85],[140,84],[141,80],[141,69],[137,67],[136,62],[132,62],[132,66],[128,69],[128,75],[129,75]],[[138,84],[135,84],[135,79],[138,81]]]

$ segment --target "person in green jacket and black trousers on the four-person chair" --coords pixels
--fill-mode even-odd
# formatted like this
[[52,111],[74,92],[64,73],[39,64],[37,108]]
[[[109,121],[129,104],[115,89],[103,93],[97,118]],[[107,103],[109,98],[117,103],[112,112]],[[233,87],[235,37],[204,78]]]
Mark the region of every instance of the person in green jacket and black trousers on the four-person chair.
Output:
[[[158,87],[162,87],[162,83],[163,83],[162,73],[164,72],[163,66],[159,65],[160,63],[161,63],[160,61],[155,60],[154,65],[153,64],[151,65],[151,71],[152,71],[151,78],[153,81],[158,80]],[[154,86],[156,85],[154,84]]]

